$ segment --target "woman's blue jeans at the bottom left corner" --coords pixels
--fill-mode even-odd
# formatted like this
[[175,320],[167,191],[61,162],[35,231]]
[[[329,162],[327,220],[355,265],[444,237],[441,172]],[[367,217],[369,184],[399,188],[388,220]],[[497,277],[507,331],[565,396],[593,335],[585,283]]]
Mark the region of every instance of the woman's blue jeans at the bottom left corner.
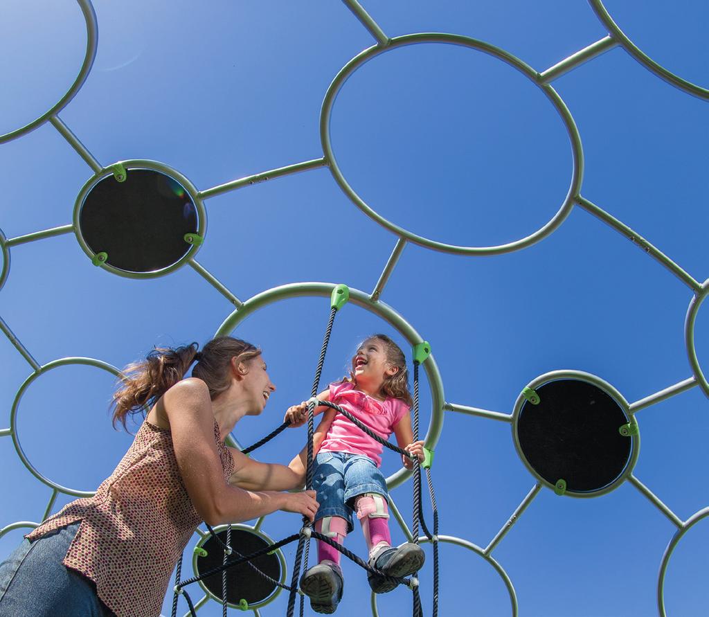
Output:
[[80,523],[30,543],[0,564],[0,617],[111,617],[94,582],[62,564]]

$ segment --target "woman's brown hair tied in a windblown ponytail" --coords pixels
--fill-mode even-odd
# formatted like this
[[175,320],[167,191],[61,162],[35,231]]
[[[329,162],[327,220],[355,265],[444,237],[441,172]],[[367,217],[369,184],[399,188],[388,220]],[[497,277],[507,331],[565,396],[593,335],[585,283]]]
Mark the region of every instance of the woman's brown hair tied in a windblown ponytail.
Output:
[[192,377],[198,377],[207,384],[209,396],[213,400],[228,389],[231,382],[229,367],[232,358],[237,362],[248,362],[261,354],[261,350],[251,343],[230,336],[219,336],[209,341],[201,351],[197,343],[183,347],[160,347],[152,350],[145,360],[133,362],[123,369],[121,387],[113,394],[113,427],[130,414],[148,411],[157,399],[184,377],[192,362]]

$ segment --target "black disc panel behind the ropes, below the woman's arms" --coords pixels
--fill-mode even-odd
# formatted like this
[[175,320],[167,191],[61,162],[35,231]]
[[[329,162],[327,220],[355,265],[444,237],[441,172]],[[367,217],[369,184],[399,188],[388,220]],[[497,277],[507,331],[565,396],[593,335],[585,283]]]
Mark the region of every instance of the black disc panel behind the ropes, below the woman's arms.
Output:
[[[217,533],[220,540],[226,543],[226,530]],[[231,530],[231,547],[242,555],[251,555],[252,552],[261,550],[268,546],[266,540],[245,529]],[[222,565],[224,550],[213,537],[203,543],[203,549],[207,551],[206,557],[197,557],[197,574],[207,572],[213,567]],[[237,559],[238,555],[233,552],[229,559]],[[281,579],[281,562],[277,555],[262,555],[252,560],[261,572],[279,581]],[[222,597],[222,575],[221,572],[212,574],[211,577],[203,579],[207,589],[218,598]],[[228,567],[226,569],[226,599],[229,604],[239,604],[244,599],[249,604],[267,599],[276,589],[276,585],[267,581],[264,577],[255,572],[247,563]]]

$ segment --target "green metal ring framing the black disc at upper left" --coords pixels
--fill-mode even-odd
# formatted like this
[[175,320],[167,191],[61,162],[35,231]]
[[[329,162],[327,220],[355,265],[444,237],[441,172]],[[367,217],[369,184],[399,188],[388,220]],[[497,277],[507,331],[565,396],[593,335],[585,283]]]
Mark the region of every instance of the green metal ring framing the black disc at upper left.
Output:
[[[118,161],[118,164],[123,165],[127,173],[130,172],[130,169],[152,169],[152,171],[165,174],[166,176],[174,179],[176,182],[181,184],[182,187],[184,187],[184,189],[189,194],[192,203],[194,203],[194,206],[197,209],[197,219],[199,221],[199,224],[195,233],[196,235],[201,236],[201,238],[205,237],[207,232],[207,212],[204,208],[204,204],[201,197],[199,197],[199,191],[196,189],[194,184],[189,181],[189,179],[187,179],[176,169],[172,169],[172,167],[168,167],[167,165],[164,165],[164,163],[157,161],[145,159],[131,159],[125,161]],[[96,254],[93,250],[91,250],[89,245],[86,244],[86,240],[84,240],[84,237],[82,236],[82,231],[79,227],[79,217],[81,216],[82,205],[84,204],[84,199],[86,199],[86,195],[88,195],[89,191],[102,179],[108,176],[113,176],[114,165],[116,165],[116,163],[104,167],[103,169],[101,169],[100,172],[97,172],[91,178],[89,178],[89,180],[86,181],[86,184],[84,184],[84,186],[82,187],[81,191],[79,191],[77,200],[74,202],[74,213],[72,215],[74,223],[74,234],[77,237],[79,246],[81,246],[82,250],[84,250],[86,255],[88,255],[89,259],[91,260],[94,259]],[[165,274],[169,274],[170,272],[173,272],[174,270],[182,267],[186,262],[191,260],[191,258],[196,255],[196,252],[199,251],[199,246],[200,245],[197,243],[190,245],[189,250],[182,257],[180,257],[177,262],[174,262],[174,264],[169,265],[166,268],[155,270],[153,272],[126,272],[125,270],[113,267],[112,265],[108,265],[106,263],[101,263],[101,268],[103,268],[104,270],[108,270],[108,272],[112,272],[113,274],[118,274],[119,277],[125,277],[128,279],[152,279],[155,277],[162,277]]]

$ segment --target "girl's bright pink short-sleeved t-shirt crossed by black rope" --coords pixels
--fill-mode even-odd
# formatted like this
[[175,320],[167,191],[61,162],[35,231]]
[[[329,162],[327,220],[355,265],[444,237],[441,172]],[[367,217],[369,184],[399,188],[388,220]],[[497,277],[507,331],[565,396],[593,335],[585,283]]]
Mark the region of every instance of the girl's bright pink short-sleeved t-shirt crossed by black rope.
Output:
[[[378,401],[364,392],[354,389],[354,384],[342,382],[330,384],[330,402],[352,413],[364,426],[381,438],[389,439],[396,423],[406,416],[408,405],[401,399],[388,396]],[[384,446],[355,426],[342,413],[337,413],[325,435],[320,452],[348,452],[368,456],[379,467]]]

